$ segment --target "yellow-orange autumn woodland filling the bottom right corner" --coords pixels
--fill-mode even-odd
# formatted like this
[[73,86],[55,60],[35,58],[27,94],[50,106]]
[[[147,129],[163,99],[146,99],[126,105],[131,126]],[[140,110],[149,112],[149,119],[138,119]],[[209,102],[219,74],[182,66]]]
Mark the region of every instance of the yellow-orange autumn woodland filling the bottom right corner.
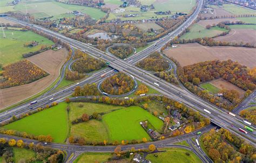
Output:
[[226,129],[203,135],[203,145],[214,162],[255,162],[256,148]]

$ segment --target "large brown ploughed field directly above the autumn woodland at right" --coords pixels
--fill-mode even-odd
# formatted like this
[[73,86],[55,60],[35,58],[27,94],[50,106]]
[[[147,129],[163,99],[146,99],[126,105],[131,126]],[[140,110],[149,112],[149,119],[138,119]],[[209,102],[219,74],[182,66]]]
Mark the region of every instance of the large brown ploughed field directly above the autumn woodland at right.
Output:
[[198,43],[178,44],[177,48],[164,51],[167,56],[176,59],[181,66],[208,60],[238,61],[241,65],[253,68],[256,66],[256,48],[232,46],[203,46]]

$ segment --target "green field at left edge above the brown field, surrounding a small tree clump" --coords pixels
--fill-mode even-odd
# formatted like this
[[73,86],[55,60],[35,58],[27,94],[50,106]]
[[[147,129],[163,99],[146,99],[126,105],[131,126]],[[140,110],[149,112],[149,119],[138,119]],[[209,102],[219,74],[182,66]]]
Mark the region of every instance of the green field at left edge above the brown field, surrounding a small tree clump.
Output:
[[[5,30],[4,32],[6,38],[0,34],[0,64],[2,65],[17,62],[23,59],[22,54],[38,51],[43,45],[50,46],[53,44],[51,40],[32,31]],[[40,44],[32,48],[24,47],[24,44],[30,41],[39,41]]]

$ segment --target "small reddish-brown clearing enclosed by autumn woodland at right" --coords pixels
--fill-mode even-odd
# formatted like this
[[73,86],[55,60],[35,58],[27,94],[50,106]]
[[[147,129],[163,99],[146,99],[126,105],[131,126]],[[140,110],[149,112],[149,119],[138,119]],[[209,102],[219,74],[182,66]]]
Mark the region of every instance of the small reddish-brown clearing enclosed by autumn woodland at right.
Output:
[[224,79],[221,79],[221,78],[215,79],[215,80],[212,80],[210,83],[219,89],[237,90],[239,93],[239,97],[240,98],[244,97],[244,94],[245,94],[244,90],[242,90],[241,88],[235,86],[234,84],[232,84],[228,81],[225,81]]

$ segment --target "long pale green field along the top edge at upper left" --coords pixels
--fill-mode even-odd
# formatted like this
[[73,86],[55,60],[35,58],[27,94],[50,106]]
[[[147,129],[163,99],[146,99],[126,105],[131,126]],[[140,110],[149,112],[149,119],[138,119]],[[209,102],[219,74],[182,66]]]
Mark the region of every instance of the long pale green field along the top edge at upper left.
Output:
[[90,8],[82,5],[64,4],[55,1],[19,3],[14,9],[23,13],[26,13],[27,10],[28,13],[31,13],[31,15],[35,18],[53,16],[53,18],[51,18],[52,20],[63,17],[74,17],[74,15],[70,14],[69,12],[75,10],[86,13],[97,20],[105,16],[105,13],[100,11],[100,9]]

